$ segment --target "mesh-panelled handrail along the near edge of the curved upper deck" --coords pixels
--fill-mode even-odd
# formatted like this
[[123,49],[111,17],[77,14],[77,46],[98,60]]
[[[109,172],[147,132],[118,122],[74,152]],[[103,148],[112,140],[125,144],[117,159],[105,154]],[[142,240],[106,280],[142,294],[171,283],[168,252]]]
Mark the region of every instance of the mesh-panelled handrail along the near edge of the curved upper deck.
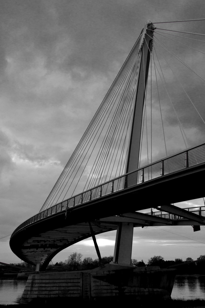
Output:
[[64,211],[65,209],[73,206],[84,204],[91,200],[102,198],[106,195],[142,184],[157,177],[166,176],[172,172],[203,163],[204,161],[205,143],[191,147],[172,156],[168,156],[152,164],[138,168],[135,171],[128,172],[122,176],[118,176],[115,179],[109,180],[101,185],[86,190],[83,193],[57,203],[56,205],[53,205],[24,221],[14,230],[11,237],[27,225],[33,224],[34,222],[44,219],[45,217],[57,212]]

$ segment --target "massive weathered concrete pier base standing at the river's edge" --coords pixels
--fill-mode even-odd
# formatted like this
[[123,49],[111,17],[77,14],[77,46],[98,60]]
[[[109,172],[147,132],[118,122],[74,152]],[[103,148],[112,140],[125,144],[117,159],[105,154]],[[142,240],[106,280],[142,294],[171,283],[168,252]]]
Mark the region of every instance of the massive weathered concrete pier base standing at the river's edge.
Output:
[[110,269],[108,264],[101,270],[42,273],[30,275],[21,303],[36,300],[47,302],[50,298],[67,298],[67,302],[79,301],[121,301],[131,297],[134,300],[170,299],[175,279],[175,269],[158,266]]

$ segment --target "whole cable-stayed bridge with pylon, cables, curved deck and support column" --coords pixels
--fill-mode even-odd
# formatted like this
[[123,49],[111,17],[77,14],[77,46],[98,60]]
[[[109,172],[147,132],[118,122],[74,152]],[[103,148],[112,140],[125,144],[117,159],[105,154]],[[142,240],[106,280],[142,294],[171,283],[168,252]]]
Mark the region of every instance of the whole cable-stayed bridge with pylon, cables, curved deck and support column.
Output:
[[[205,54],[203,46],[198,50],[192,44],[192,41],[195,45],[204,43],[195,37],[205,34],[171,30],[191,35],[183,38],[191,40],[186,45],[178,33],[166,31],[156,29],[152,22],[145,24],[40,212],[12,234],[11,249],[22,260],[41,264],[44,269],[62,249],[90,236],[95,242],[95,234],[117,229],[113,264],[128,265],[133,227],[194,225],[197,228],[205,224],[203,208],[187,211],[172,205],[203,197],[205,122],[201,84],[205,76],[199,75],[198,70],[158,38],[180,37],[177,42],[180,46]],[[190,62],[190,54],[187,55]],[[175,73],[176,63],[170,62],[172,58],[183,69],[180,67]],[[191,94],[180,79],[181,72],[188,88],[192,86]],[[185,110],[188,114],[192,111],[189,122],[185,121]],[[197,122],[193,126],[200,131],[197,138],[193,134],[189,138],[187,134],[188,123],[193,119]],[[167,122],[174,127],[173,136]],[[170,142],[175,136],[178,148],[177,142]],[[196,145],[193,139],[200,144]],[[136,212],[151,207],[169,216]]]

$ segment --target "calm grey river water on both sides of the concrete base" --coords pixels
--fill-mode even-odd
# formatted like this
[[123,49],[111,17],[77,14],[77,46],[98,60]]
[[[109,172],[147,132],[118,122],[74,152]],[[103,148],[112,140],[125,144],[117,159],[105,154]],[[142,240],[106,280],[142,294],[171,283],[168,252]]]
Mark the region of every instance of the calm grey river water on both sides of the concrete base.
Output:
[[[0,278],[0,304],[15,304],[21,298],[26,280]],[[205,276],[176,276],[172,298],[205,299]]]

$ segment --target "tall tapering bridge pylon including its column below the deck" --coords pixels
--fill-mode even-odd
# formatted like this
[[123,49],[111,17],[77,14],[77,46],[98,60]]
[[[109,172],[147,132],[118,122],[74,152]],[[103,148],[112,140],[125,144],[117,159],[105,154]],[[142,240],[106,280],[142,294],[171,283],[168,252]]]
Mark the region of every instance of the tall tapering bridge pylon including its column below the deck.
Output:
[[[148,21],[142,30],[139,46],[140,62],[137,73],[135,96],[133,99],[132,122],[128,142],[128,155],[125,172],[132,172],[139,168],[140,141],[143,121],[144,101],[146,95],[150,53],[155,27]],[[126,185],[126,184],[125,184]],[[134,201],[136,202],[136,201]],[[112,264],[131,265],[133,223],[120,222],[117,226],[114,257]]]

